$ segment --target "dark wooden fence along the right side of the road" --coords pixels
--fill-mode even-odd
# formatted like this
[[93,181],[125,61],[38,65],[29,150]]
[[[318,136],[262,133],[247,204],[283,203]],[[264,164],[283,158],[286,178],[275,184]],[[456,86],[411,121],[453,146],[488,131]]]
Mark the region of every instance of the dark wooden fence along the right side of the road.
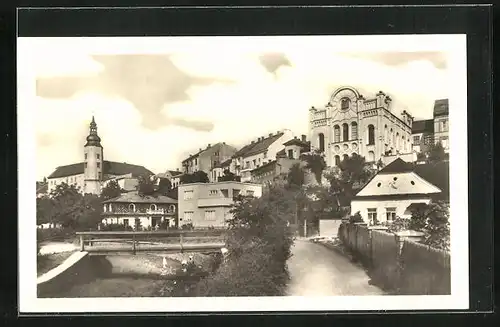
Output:
[[338,236],[368,269],[374,284],[404,295],[451,294],[449,252],[417,241],[417,233],[388,233],[383,227],[343,223]]

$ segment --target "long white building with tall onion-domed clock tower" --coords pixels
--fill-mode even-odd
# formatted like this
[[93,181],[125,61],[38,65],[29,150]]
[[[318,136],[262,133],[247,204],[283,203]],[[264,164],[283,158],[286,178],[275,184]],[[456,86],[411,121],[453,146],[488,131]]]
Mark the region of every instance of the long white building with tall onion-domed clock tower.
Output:
[[83,193],[100,194],[102,186],[109,179],[129,176],[151,176],[153,173],[143,166],[131,165],[125,162],[104,160],[101,138],[97,135],[97,124],[94,117],[90,123],[87,143],[83,148],[84,161],[65,166],[59,166],[47,177],[50,193],[57,185],[66,183],[75,185]]

